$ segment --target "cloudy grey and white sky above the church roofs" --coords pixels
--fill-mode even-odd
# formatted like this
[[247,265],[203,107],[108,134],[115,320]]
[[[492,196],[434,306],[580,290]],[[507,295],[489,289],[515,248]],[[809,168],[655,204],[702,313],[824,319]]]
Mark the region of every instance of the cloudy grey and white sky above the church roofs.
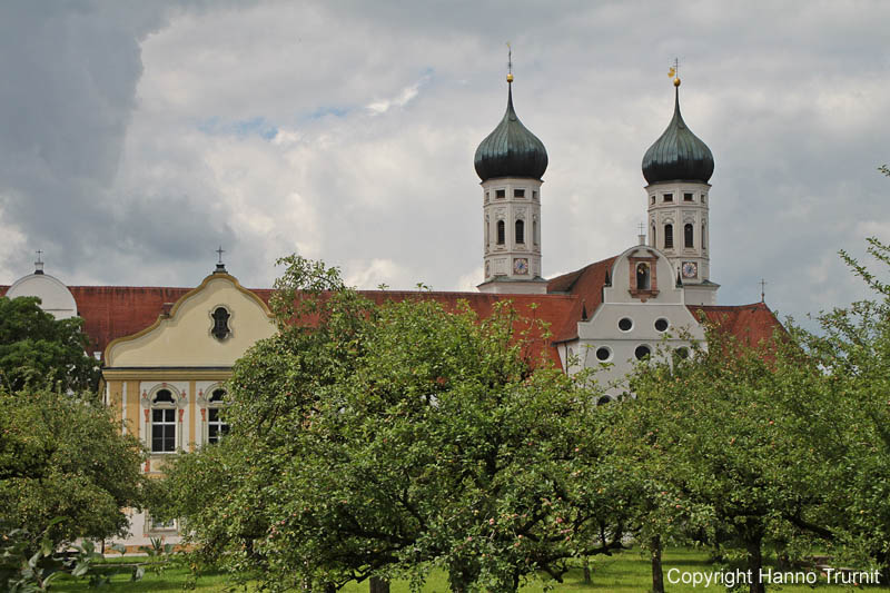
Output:
[[547,147],[544,274],[622,251],[668,125],[714,154],[720,302],[864,293],[890,240],[890,3],[3,2],[0,284],[245,285],[299,253],[354,285],[482,279],[478,142],[506,100]]

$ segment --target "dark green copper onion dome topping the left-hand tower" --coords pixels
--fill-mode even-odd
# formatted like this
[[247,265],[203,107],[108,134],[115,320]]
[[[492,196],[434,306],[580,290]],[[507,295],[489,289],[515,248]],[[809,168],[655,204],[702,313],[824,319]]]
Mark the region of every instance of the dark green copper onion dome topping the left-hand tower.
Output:
[[[512,82],[512,77],[507,78]],[[476,149],[476,174],[483,181],[495,177],[541,179],[547,170],[547,150],[537,136],[522,125],[513,109],[513,85],[507,91],[504,119]]]

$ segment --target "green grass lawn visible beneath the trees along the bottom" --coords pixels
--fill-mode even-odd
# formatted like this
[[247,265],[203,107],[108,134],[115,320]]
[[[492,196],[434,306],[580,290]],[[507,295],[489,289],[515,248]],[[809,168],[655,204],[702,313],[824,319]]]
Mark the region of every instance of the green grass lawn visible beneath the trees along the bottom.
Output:
[[[127,561],[130,559],[123,559]],[[135,559],[132,559],[135,560]],[[117,560],[121,562],[121,560]],[[708,564],[706,556],[699,550],[688,548],[673,548],[668,550],[664,554],[664,574],[665,574],[665,591],[671,593],[691,593],[702,591],[725,591],[721,585],[712,584],[705,587],[700,584],[694,587],[690,584],[671,584],[668,582],[668,571],[678,569],[679,571],[686,572],[701,572],[710,573],[714,569]],[[585,584],[583,582],[583,573],[581,569],[573,570],[565,575],[564,583],[553,583],[554,592],[561,591],[599,591],[599,592],[614,592],[614,593],[640,593],[649,591],[651,576],[650,564],[647,557],[637,551],[629,551],[614,556],[597,556],[592,561],[592,583]],[[160,592],[180,592],[182,584],[188,576],[188,570],[181,566],[172,566],[167,569],[162,574],[157,575],[151,571],[146,572],[145,577],[138,582],[130,582],[127,576],[120,575],[112,580],[111,586],[103,587],[101,591],[108,592],[140,592],[140,591],[160,591]],[[202,574],[198,577],[195,591],[200,592],[222,592],[231,591],[231,580],[228,575],[222,573]],[[823,581],[815,587],[818,591],[824,592],[849,592],[853,591],[850,586],[843,585],[827,585]],[[364,583],[349,583],[342,591],[345,593],[366,592],[368,590],[367,582]],[[745,587],[746,590],[746,587]],[[867,587],[868,591],[890,591],[888,586]],[[83,582],[75,582],[72,580],[60,581],[52,587],[52,591],[59,592],[86,592],[90,590]],[[447,593],[448,583],[445,574],[442,572],[434,573],[424,587],[425,593]],[[524,593],[536,593],[544,591],[544,583],[535,581],[522,589]],[[803,593],[811,592],[813,589],[809,585],[768,585],[767,591],[781,591],[782,593]],[[392,593],[407,593],[408,585],[405,582],[395,582],[392,586]]]

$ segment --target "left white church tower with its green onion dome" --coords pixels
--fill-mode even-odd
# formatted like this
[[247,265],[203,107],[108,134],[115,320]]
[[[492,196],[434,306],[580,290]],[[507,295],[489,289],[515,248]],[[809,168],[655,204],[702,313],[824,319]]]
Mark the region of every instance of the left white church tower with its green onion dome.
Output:
[[512,63],[504,118],[476,149],[482,179],[485,280],[483,293],[544,294],[541,275],[541,177],[544,144],[513,108]]

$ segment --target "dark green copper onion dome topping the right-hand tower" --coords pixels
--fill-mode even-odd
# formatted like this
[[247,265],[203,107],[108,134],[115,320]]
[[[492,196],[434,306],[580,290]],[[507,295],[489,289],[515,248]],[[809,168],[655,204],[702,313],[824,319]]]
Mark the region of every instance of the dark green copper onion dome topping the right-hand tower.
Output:
[[714,172],[714,157],[698,136],[692,134],[680,115],[680,79],[674,79],[674,117],[668,129],[649,147],[643,157],[643,177],[659,181],[701,181],[706,184]]

